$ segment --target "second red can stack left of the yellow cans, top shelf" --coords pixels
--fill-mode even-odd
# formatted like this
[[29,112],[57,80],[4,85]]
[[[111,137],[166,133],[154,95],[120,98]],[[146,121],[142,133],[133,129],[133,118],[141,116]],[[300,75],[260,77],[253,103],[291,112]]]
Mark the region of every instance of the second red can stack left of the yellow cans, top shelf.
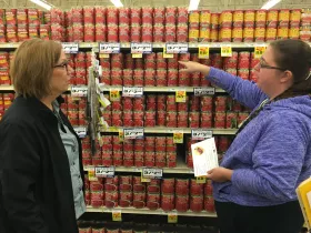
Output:
[[165,8],[165,29],[164,29],[164,41],[165,42],[175,42],[177,41],[177,7],[167,7]]

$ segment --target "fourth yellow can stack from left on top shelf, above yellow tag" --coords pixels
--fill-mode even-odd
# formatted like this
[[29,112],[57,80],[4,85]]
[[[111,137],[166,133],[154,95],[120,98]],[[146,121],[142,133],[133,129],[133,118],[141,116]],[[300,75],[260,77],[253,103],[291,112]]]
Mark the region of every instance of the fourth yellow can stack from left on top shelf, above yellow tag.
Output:
[[220,14],[220,42],[231,42],[232,40],[232,20],[233,13],[231,10],[222,11]]

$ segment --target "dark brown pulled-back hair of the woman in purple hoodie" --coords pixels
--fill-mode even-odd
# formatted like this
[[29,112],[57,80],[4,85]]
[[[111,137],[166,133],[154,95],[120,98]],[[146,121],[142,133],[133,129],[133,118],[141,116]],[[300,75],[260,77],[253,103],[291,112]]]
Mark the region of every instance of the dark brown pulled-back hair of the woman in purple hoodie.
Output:
[[277,40],[270,43],[279,68],[293,74],[293,84],[278,99],[311,93],[311,48],[301,40]]

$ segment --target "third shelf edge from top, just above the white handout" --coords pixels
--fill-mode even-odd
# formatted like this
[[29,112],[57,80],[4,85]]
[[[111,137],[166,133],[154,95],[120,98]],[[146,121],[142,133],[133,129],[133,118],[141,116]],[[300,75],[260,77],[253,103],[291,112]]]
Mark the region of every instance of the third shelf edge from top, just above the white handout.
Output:
[[[124,128],[116,128],[110,126],[108,129],[101,129],[100,132],[110,132],[110,133],[118,133],[120,130]],[[191,133],[191,128],[167,128],[167,126],[154,126],[154,128],[144,128],[144,133],[174,133],[174,132],[183,132],[185,134]],[[210,130],[213,134],[221,134],[221,135],[234,135],[237,129],[201,129],[201,130]]]

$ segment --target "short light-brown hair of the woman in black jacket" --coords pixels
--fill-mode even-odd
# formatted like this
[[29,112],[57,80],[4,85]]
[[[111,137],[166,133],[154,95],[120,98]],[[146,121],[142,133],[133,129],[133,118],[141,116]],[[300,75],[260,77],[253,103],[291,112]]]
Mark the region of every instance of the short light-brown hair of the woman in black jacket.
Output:
[[21,43],[10,69],[16,93],[38,99],[50,94],[50,79],[61,50],[54,41],[32,39]]

